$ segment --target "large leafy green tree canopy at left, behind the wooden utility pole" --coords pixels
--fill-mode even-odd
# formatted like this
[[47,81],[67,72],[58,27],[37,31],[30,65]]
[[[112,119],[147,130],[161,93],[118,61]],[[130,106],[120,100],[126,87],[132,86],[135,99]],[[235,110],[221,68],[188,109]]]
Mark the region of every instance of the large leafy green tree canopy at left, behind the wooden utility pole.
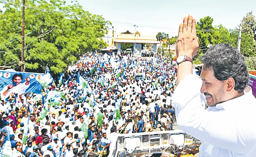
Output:
[[[0,18],[0,65],[12,63],[20,70],[21,0],[0,1],[4,12]],[[77,2],[66,5],[63,0],[26,0],[25,4],[25,71],[52,73],[64,71],[85,52],[106,45],[106,21],[102,16],[84,11]]]

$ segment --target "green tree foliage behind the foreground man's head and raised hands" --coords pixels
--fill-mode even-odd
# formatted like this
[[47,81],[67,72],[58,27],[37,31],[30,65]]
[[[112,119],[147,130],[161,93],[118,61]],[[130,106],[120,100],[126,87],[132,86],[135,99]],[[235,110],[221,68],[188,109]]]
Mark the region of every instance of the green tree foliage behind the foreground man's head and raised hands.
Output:
[[[237,48],[238,28],[227,29],[222,26],[212,26],[213,18],[206,16],[200,18],[197,22],[197,37],[200,41],[198,54],[193,58],[195,64],[200,64],[199,58],[207,49],[215,44],[227,43]],[[249,69],[256,69],[256,19],[252,12],[241,21],[242,34],[241,34],[241,48],[240,52],[245,57]],[[253,60],[254,58],[254,60]]]

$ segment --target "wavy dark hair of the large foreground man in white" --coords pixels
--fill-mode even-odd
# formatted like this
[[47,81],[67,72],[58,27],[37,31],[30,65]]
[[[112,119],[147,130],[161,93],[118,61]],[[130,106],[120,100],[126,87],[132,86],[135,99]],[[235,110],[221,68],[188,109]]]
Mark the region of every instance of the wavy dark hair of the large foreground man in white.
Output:
[[245,59],[239,51],[230,44],[217,44],[211,46],[206,53],[200,57],[204,68],[212,69],[216,79],[220,81],[233,78],[235,90],[243,92],[249,82],[249,71]]

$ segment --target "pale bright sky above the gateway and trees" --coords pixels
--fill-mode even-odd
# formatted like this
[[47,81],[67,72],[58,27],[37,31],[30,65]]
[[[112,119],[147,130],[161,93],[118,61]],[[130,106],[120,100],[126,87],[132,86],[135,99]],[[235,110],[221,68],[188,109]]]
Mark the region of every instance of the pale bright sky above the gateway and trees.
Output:
[[[67,0],[70,4],[71,0]],[[246,13],[256,15],[256,0],[78,0],[83,9],[102,15],[112,22],[115,34],[129,30],[134,24],[141,35],[158,32],[178,35],[179,24],[189,13],[198,22],[204,16],[213,18],[213,26],[222,24],[230,29],[240,24]]]

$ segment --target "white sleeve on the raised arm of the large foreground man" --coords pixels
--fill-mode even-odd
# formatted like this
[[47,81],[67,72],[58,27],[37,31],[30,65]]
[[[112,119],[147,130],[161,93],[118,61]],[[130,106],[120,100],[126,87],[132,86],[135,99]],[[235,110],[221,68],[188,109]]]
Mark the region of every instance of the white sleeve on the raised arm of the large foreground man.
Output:
[[202,108],[201,86],[202,80],[188,75],[175,89],[173,104],[178,127],[197,139],[226,150],[246,154],[254,149],[251,147],[256,147],[254,131],[240,123],[235,113]]

